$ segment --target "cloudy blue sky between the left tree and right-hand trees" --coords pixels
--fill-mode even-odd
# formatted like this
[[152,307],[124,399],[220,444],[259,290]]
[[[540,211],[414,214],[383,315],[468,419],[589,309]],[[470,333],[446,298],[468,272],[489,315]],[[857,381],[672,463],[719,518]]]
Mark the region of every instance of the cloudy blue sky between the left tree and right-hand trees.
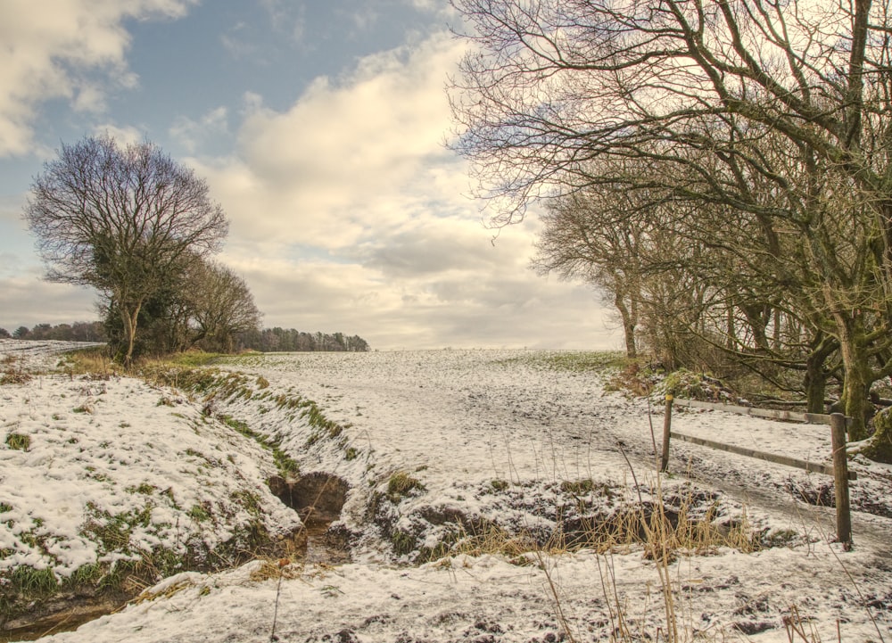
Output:
[[373,349],[621,346],[582,283],[497,236],[445,144],[446,0],[0,0],[0,327],[98,318],[21,217],[62,143],[151,141],[207,179],[263,326]]

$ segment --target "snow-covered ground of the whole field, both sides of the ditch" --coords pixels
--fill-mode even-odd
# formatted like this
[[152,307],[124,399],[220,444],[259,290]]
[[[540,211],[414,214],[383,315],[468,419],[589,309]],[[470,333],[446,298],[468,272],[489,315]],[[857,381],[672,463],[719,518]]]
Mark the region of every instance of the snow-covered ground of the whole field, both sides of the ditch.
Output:
[[[53,366],[40,356],[60,347],[22,351],[27,344],[0,341],[0,359],[18,350],[29,367]],[[63,575],[103,556],[78,534],[80,512],[87,503],[130,510],[141,495],[124,490],[142,484],[153,509],[134,530],[135,546],[182,540],[177,525],[186,524],[208,547],[225,541],[248,519],[227,509],[239,490],[259,499],[269,532],[293,528],[296,515],[262,484],[275,470],[268,450],[211,419],[227,416],[277,443],[302,476],[346,482],[335,530],[350,541],[352,562],[181,573],[118,614],[45,640],[640,640],[675,627],[680,639],[788,641],[794,626],[807,640],[892,640],[889,467],[852,463],[855,549],[844,552],[830,542],[833,509],[803,501],[826,498],[829,477],[676,441],[673,473],[657,478],[651,424],[658,441],[661,409],[648,417],[647,400],[606,392],[604,375],[556,368],[554,357],[245,356],[217,365],[218,385],[201,394],[128,378],[100,389],[60,375],[5,384],[0,426],[28,434],[30,446],[0,449],[0,502],[12,507],[0,523],[0,568],[37,561]],[[91,412],[74,411],[85,404]],[[821,425],[676,411],[673,429],[795,458],[830,456]],[[411,482],[395,489],[394,480]],[[581,521],[654,501],[657,486],[672,507],[708,515],[717,528],[748,525],[763,548],[677,556],[668,583],[640,546],[554,555],[454,548],[483,529],[553,544]],[[176,503],[163,501],[166,490]],[[3,531],[36,519],[32,534],[44,530],[53,543],[44,558],[16,544],[20,527]]]

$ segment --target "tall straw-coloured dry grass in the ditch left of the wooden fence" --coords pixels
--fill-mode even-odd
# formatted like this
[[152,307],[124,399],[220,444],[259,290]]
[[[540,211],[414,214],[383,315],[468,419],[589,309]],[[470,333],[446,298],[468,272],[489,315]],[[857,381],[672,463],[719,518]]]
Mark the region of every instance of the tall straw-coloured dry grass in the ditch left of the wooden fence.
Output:
[[[637,483],[635,487],[638,488]],[[685,622],[685,614],[690,613],[690,609],[684,602],[681,581],[673,578],[673,563],[681,556],[711,555],[722,548],[748,553],[758,547],[758,539],[746,513],[733,526],[719,527],[715,520],[717,507],[704,510],[704,499],[698,498],[693,490],[681,496],[673,492],[669,497],[662,489],[660,476],[649,490],[648,499],[642,496],[639,495],[637,504],[616,510],[606,520],[595,522],[591,519],[591,523],[583,523],[582,530],[557,532],[544,544],[537,543],[529,533],[509,533],[486,523],[477,531],[463,530],[453,551],[468,556],[506,556],[516,565],[535,565],[541,569],[546,576],[546,591],[550,594],[555,615],[566,640],[571,642],[579,639],[574,635],[573,618],[565,613],[562,605],[563,593],[558,581],[561,555],[580,549],[594,551],[600,591],[612,632],[611,641],[637,643],[647,639],[679,643],[693,639],[692,626]],[[656,594],[648,599],[646,606],[633,606],[635,616],[632,617],[632,606],[627,605],[627,599],[617,589],[613,559],[636,551],[651,561],[658,581]],[[642,618],[642,611],[650,618]],[[800,643],[805,643],[801,640],[800,625],[793,631]],[[723,636],[723,632],[718,635]],[[814,639],[807,643],[814,643]]]

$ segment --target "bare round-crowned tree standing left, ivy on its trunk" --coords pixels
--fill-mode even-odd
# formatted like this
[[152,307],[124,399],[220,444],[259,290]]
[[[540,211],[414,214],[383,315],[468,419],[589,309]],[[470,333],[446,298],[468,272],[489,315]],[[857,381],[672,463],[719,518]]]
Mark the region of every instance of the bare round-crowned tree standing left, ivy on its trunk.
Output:
[[90,136],[62,145],[24,209],[46,278],[92,286],[114,301],[125,364],[146,301],[188,256],[219,251],[228,223],[207,182],[151,143]]

